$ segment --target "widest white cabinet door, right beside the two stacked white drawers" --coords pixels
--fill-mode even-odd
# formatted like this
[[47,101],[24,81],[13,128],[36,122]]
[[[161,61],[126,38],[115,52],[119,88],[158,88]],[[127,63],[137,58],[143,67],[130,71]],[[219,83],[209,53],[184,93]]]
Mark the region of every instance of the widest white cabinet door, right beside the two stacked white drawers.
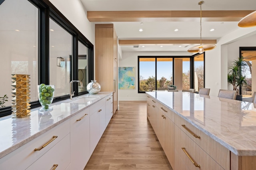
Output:
[[70,119],[71,169],[82,170],[90,158],[89,108]]

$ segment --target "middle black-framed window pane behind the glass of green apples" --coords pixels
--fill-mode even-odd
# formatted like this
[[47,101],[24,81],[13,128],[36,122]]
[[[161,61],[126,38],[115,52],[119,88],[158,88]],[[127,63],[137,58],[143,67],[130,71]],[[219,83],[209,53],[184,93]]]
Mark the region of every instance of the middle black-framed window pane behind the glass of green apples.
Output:
[[[72,35],[50,19],[50,85],[55,85],[54,97],[70,93],[70,55]],[[57,63],[60,61],[60,63]]]

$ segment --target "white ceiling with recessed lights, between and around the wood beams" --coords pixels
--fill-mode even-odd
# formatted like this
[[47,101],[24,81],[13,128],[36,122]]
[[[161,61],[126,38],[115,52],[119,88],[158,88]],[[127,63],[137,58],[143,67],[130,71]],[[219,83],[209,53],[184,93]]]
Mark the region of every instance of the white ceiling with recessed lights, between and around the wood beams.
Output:
[[[200,10],[200,0],[81,0],[87,11],[135,11],[135,10]],[[204,0],[204,10],[256,10],[256,0]],[[200,18],[187,22],[97,22],[114,24],[119,40],[200,39]],[[238,22],[206,22],[202,20],[202,40],[216,40],[234,30],[241,29]],[[144,31],[139,32],[142,28]],[[174,32],[174,29],[179,29]],[[214,28],[213,32],[210,29]],[[246,29],[246,28],[244,28]],[[187,51],[197,44],[146,45],[134,48],[122,45],[122,51]]]

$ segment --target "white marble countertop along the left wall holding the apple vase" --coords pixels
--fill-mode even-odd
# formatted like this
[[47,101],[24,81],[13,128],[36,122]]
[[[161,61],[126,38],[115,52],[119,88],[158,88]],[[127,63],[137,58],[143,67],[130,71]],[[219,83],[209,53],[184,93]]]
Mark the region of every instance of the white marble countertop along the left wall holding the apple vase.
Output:
[[[39,111],[40,107],[31,109],[30,116],[12,118],[12,115],[0,118],[0,158],[13,150],[30,142],[44,132],[68,120],[90,105],[110,95],[112,92],[100,92],[98,94],[86,94],[52,103],[50,113]],[[94,98],[87,103],[75,103],[81,98]],[[74,102],[74,103],[72,103]]]

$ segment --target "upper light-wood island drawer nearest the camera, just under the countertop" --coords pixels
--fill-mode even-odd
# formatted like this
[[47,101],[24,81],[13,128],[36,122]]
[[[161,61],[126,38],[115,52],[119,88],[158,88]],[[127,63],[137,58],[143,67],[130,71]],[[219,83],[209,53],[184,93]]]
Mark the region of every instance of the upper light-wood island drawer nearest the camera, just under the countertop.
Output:
[[[200,148],[208,153],[224,169],[230,169],[230,150],[216,142],[210,136],[188,123],[179,115],[174,115],[175,124],[187,134]],[[183,126],[182,126],[183,125]],[[185,125],[185,127],[184,127]],[[194,136],[191,134],[194,134]],[[198,137],[200,136],[200,138]]]

